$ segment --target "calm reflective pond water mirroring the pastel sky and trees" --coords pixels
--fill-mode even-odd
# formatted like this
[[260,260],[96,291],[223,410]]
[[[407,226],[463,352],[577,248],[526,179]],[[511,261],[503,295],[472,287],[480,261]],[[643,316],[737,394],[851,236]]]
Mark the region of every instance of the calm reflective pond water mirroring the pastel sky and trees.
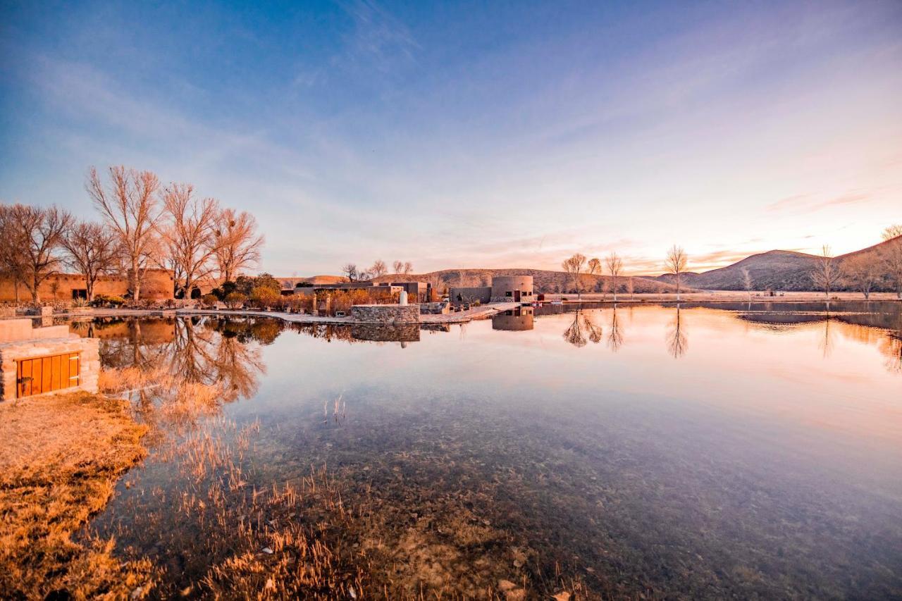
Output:
[[[381,549],[410,590],[902,596],[898,304],[718,307],[72,328],[103,339],[108,366],[224,384],[216,412],[159,438],[249,436],[226,504],[325,466],[369,516],[354,549]],[[198,594],[230,552],[204,541],[230,524],[183,507],[215,476],[160,442],[92,528],[166,569],[162,595]]]

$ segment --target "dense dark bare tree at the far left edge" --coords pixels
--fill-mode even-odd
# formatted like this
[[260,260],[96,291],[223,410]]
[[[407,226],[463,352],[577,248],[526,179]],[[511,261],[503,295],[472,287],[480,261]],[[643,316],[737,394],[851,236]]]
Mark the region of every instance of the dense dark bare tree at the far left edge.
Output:
[[20,258],[15,266],[32,293],[32,302],[41,302],[41,283],[60,266],[60,243],[71,222],[69,213],[55,206],[14,204],[0,208],[0,231],[19,245]]

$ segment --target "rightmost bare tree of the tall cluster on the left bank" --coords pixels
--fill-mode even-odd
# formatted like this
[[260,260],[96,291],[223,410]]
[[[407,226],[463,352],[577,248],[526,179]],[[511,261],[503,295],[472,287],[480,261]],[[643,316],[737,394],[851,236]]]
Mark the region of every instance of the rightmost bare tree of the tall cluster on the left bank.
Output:
[[216,270],[220,282],[234,282],[245,269],[260,263],[263,236],[247,211],[224,208],[216,215]]

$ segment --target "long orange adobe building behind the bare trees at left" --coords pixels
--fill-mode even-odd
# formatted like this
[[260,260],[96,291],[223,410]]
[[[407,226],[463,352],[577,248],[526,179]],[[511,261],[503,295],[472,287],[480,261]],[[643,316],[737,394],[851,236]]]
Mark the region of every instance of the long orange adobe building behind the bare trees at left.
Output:
[[[122,296],[129,295],[129,279],[119,275],[102,275],[94,284],[94,293],[97,296]],[[164,301],[172,298],[175,291],[175,281],[172,272],[168,269],[148,269],[144,272],[144,280],[141,284],[141,298],[150,301]],[[72,301],[74,299],[87,298],[87,283],[85,276],[80,273],[53,273],[38,287],[41,294],[41,302]],[[15,283],[7,278],[0,279],[0,302],[15,301]],[[19,301],[32,300],[32,293],[19,284]]]

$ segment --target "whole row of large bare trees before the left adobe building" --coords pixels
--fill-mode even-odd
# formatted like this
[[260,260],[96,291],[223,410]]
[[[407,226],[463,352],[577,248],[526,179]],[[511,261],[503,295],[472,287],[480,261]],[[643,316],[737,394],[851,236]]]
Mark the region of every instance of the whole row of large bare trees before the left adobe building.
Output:
[[191,184],[161,186],[151,171],[110,167],[104,181],[92,168],[86,190],[102,221],[80,221],[56,206],[0,205],[0,272],[23,284],[33,302],[40,286],[64,268],[86,279],[87,300],[101,275],[129,278],[133,301],[141,298],[148,269],[170,269],[177,295],[197,282],[230,282],[260,261],[263,236],[246,211],[221,208]]

